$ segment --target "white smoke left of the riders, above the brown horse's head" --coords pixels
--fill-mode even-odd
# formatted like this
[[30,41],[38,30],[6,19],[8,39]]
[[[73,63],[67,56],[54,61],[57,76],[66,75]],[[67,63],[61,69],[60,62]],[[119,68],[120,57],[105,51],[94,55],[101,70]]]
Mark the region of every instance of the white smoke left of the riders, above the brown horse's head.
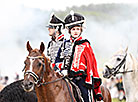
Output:
[[23,77],[26,42],[33,48],[41,41],[47,44],[49,15],[50,11],[25,7],[18,0],[0,1],[0,76],[13,80],[17,72]]

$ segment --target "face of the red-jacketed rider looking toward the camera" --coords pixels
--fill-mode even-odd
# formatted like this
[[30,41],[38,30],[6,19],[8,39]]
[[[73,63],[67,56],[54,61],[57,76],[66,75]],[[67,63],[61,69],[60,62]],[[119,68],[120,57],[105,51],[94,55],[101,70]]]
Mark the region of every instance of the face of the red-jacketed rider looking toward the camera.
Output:
[[82,27],[75,26],[71,28],[70,33],[73,38],[78,38],[82,32]]

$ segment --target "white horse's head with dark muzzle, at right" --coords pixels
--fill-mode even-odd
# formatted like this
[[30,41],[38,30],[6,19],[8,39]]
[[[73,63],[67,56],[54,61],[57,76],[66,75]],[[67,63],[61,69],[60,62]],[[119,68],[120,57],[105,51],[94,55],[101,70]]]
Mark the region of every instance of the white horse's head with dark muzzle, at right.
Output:
[[115,76],[120,70],[122,70],[121,67],[124,65],[126,61],[127,50],[128,47],[125,50],[121,48],[111,57],[111,59],[109,59],[104,64],[104,78],[110,78],[112,75]]

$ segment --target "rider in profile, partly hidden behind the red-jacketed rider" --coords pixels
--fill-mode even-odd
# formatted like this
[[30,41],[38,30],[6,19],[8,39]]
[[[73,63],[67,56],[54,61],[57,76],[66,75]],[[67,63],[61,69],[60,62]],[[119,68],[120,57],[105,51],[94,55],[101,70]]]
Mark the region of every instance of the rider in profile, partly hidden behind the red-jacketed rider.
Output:
[[55,14],[51,14],[49,25],[46,27],[48,27],[49,36],[51,36],[51,41],[49,41],[47,47],[47,56],[49,56],[52,68],[54,68],[59,47],[64,41],[64,34],[61,32],[64,29],[64,22]]

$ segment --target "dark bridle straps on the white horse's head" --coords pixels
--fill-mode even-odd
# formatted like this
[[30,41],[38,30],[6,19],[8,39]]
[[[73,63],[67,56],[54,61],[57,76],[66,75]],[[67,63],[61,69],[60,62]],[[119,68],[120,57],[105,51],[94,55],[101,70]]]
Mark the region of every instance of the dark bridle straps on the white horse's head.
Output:
[[[125,74],[125,73],[128,73],[128,72],[133,72],[133,70],[129,70],[129,71],[125,70],[126,57],[127,57],[127,53],[124,56],[123,60],[115,68],[110,69],[108,66],[106,66],[109,70],[109,73],[110,73],[109,75],[110,76],[112,76],[112,75],[116,76],[116,74],[120,74],[120,73]],[[120,72],[119,70],[121,69],[122,66],[123,66],[123,72]]]

